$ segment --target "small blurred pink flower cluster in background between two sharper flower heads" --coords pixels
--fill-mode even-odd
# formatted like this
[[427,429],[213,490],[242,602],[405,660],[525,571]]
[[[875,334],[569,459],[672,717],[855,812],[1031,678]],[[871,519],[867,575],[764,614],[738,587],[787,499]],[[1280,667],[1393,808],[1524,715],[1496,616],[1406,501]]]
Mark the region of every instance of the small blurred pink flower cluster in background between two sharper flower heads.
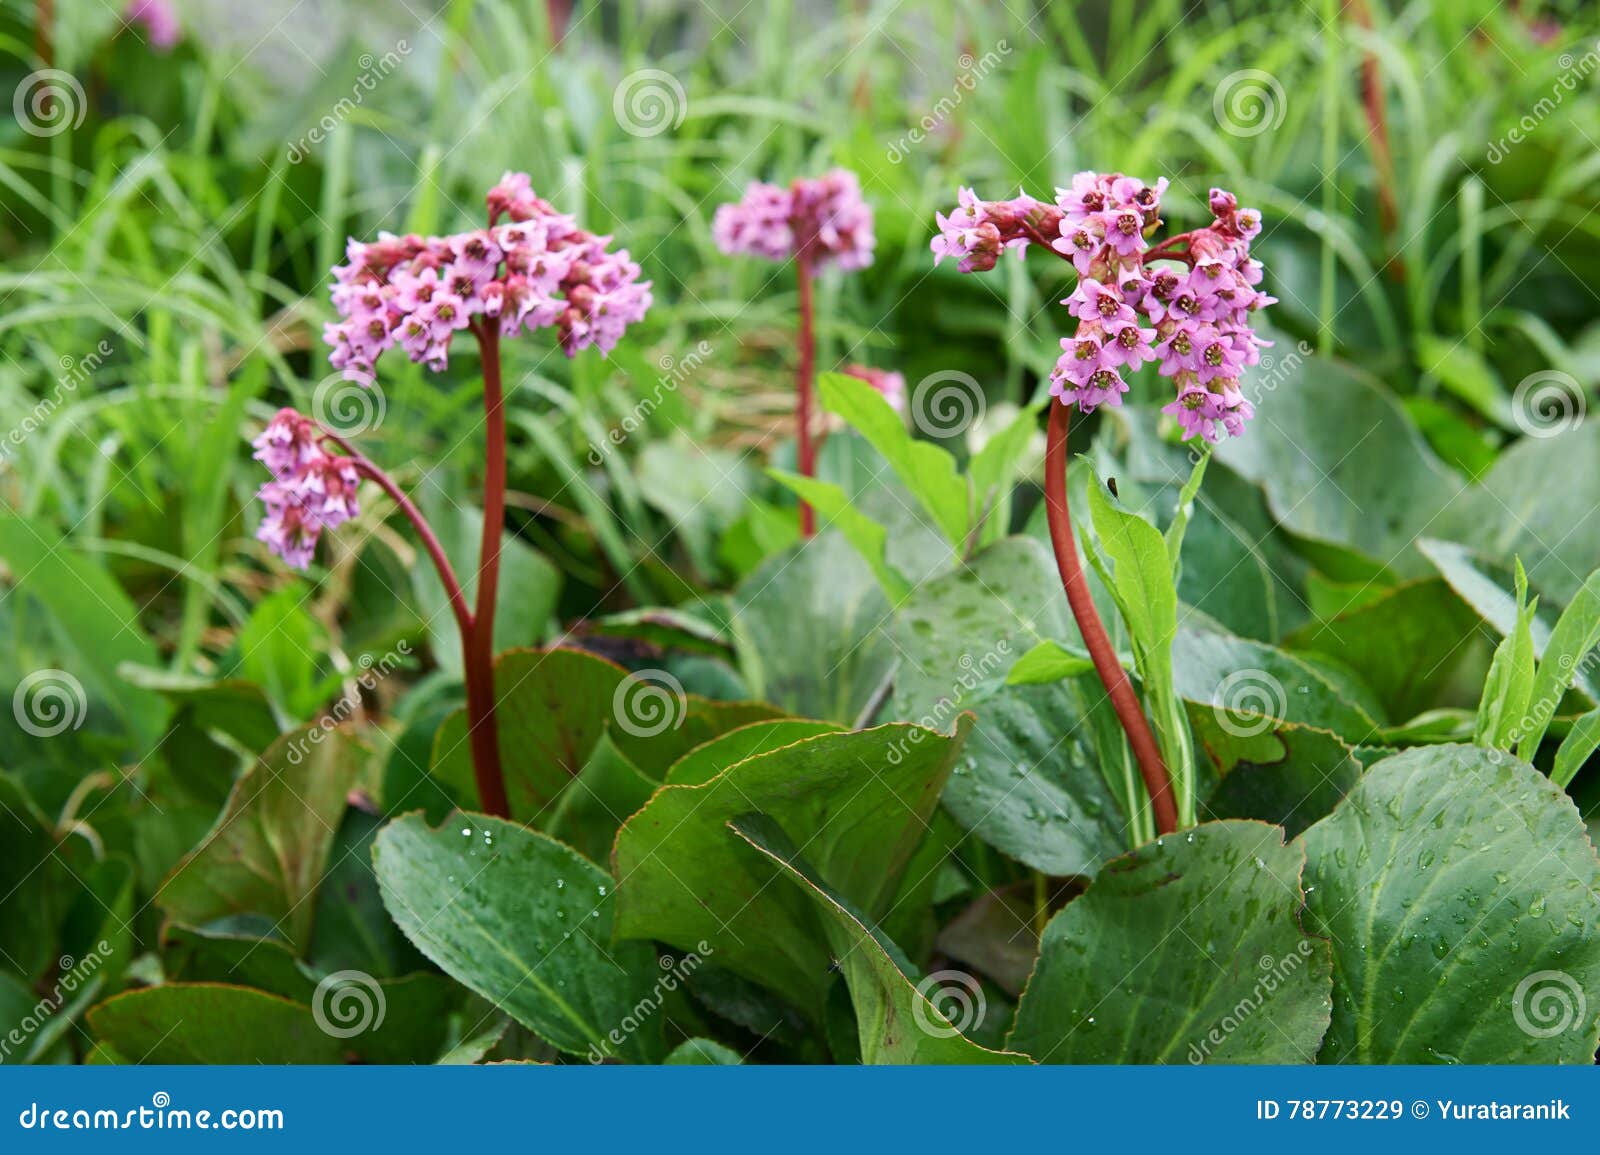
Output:
[[798,179],[787,189],[752,181],[736,203],[717,208],[712,238],[723,253],[787,261],[805,253],[816,264],[866,269],[877,238],[861,182],[845,168]]

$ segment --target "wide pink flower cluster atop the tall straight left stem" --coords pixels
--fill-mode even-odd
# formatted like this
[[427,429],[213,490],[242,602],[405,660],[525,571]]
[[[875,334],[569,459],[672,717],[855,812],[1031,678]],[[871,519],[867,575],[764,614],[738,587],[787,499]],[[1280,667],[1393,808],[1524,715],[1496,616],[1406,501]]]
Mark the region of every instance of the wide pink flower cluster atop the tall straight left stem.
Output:
[[568,357],[589,346],[610,352],[643,318],[650,282],[638,280],[627,250],[610,251],[610,237],[557,213],[525,173],[501,178],[488,206],[486,229],[350,240],[349,264],[333,270],[341,320],[323,330],[336,370],[368,386],[378,357],[397,344],[413,362],[443,370],[451,338],[478,317],[502,336],[554,325]]

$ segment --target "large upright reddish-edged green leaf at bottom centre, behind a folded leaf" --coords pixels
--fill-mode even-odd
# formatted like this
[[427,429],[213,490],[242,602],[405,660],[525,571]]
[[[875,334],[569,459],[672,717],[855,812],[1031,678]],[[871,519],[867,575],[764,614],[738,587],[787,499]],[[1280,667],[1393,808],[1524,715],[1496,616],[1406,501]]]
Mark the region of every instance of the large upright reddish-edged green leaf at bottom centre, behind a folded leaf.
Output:
[[707,953],[821,1021],[830,958],[816,912],[726,824],[766,814],[830,886],[882,917],[968,729],[962,720],[954,736],[907,725],[819,734],[699,785],[661,787],[616,838],[618,933]]

